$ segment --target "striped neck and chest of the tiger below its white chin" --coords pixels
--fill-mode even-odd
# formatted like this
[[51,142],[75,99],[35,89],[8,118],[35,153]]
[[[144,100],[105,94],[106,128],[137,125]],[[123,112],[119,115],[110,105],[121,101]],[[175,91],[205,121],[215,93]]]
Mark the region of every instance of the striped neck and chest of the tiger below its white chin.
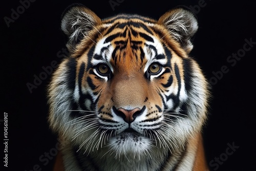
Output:
[[[118,157],[115,155],[102,156],[103,153],[91,152],[83,154],[76,152],[76,148],[67,144],[61,151],[65,170],[207,170],[204,157],[203,141],[201,134],[190,138],[186,146],[178,148],[170,153],[169,149],[153,149],[151,156],[145,154],[140,158],[134,156]],[[58,162],[61,163],[61,162]],[[55,170],[54,170],[55,171]]]

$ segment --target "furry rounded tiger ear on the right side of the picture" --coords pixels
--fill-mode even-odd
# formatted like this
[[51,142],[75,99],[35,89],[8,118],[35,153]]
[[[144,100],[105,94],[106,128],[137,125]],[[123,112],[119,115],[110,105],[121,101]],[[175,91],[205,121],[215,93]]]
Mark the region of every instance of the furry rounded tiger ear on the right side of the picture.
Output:
[[198,22],[189,9],[178,7],[170,10],[159,18],[158,24],[163,25],[187,53],[193,49],[190,40],[198,30]]

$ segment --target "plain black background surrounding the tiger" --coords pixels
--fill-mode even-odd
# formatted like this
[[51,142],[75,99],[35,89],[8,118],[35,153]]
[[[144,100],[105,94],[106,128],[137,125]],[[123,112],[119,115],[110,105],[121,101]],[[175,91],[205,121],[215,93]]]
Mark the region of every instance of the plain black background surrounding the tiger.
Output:
[[[124,12],[158,19],[177,5],[194,7],[199,30],[194,39],[191,56],[197,59],[212,84],[210,116],[204,129],[206,156],[208,163],[211,162],[210,169],[256,170],[256,45],[252,45],[247,52],[243,51],[245,39],[256,42],[255,1],[119,0],[119,5],[113,10],[109,0],[38,0],[27,4],[24,11],[19,7],[23,1],[27,2],[4,1],[0,7],[1,73],[4,77],[1,80],[0,119],[1,134],[4,135],[3,115],[4,112],[8,113],[7,170],[50,170],[54,162],[51,157],[55,154],[57,141],[48,127],[46,99],[46,86],[51,73],[42,73],[45,72],[43,68],[51,66],[52,61],[60,63],[63,58],[64,53],[61,50],[65,48],[65,37],[60,31],[60,16],[62,11],[73,3],[86,5],[101,18]],[[11,16],[12,9],[16,12],[19,10],[20,14],[8,27],[4,18],[15,18],[14,15]],[[232,53],[241,53],[241,59],[228,62],[227,59]],[[226,66],[225,73],[221,74],[223,66]],[[219,78],[214,73],[218,73]],[[30,92],[27,83],[34,84],[35,77],[39,77],[40,74],[42,78],[45,76],[44,80],[37,82],[37,88]],[[227,155],[228,144],[239,147],[235,148],[231,155]],[[3,154],[4,147],[0,151]],[[232,150],[228,149],[228,152],[230,154]],[[46,157],[47,153],[49,159]],[[3,157],[4,155],[1,155],[2,160]],[[215,161],[217,158],[220,158],[219,164]],[[3,161],[1,163],[4,165]]]

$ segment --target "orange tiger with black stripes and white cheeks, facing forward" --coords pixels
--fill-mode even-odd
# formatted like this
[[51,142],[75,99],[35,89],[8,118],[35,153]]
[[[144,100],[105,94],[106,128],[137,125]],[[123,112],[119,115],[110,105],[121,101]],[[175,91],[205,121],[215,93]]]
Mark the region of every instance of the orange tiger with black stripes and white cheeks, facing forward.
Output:
[[101,19],[81,4],[61,17],[69,55],[48,86],[53,170],[208,170],[202,138],[210,86],[190,57],[197,18]]

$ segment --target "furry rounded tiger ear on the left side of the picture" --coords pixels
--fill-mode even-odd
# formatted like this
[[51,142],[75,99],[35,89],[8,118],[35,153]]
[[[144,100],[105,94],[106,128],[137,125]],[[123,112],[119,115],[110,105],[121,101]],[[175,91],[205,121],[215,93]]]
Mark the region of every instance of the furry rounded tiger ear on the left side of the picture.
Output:
[[61,30],[68,37],[68,50],[71,51],[79,41],[88,36],[94,26],[100,23],[100,18],[87,7],[80,4],[68,7],[61,19]]

